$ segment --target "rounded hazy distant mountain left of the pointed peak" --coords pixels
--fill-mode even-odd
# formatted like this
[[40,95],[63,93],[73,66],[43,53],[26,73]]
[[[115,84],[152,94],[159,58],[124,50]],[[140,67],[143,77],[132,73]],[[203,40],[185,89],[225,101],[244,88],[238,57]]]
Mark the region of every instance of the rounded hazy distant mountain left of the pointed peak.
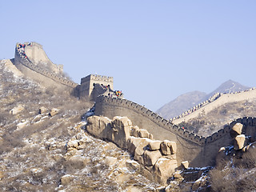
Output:
[[190,109],[201,102],[202,98],[206,97],[206,93],[200,91],[192,91],[186,94],[182,94],[175,98],[173,101],[168,102],[166,105],[162,106],[157,113],[163,118],[174,118],[179,114],[182,114],[185,110]]

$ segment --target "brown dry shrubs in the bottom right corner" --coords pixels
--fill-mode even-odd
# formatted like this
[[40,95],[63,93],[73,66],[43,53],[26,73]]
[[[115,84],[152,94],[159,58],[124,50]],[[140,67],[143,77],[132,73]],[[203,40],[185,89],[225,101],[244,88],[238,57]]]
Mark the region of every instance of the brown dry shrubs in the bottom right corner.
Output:
[[256,149],[250,148],[242,155],[230,154],[219,159],[218,165],[210,171],[212,191],[255,191]]

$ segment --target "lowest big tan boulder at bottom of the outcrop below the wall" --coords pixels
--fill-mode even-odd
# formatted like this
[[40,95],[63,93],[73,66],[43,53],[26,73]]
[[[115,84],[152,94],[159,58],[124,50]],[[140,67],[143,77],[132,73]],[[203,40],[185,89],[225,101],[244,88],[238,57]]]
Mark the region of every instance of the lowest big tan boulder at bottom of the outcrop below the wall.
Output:
[[157,182],[166,183],[167,179],[174,174],[175,168],[177,168],[176,160],[159,158],[154,165],[155,180]]

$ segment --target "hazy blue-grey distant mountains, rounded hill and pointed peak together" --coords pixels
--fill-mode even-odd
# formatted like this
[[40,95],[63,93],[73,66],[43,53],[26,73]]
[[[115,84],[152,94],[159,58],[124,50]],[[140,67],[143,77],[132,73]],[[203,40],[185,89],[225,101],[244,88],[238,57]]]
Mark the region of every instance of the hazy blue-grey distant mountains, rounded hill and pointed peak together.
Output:
[[182,94],[178,96],[178,98],[175,98],[173,101],[168,102],[166,105],[162,106],[156,112],[163,118],[174,118],[190,109],[191,107],[198,105],[198,103],[206,101],[215,93],[231,93],[248,89],[250,89],[249,86],[242,86],[238,82],[228,80],[223,82],[221,86],[218,86],[216,90],[210,92],[210,94],[206,94],[197,90]]

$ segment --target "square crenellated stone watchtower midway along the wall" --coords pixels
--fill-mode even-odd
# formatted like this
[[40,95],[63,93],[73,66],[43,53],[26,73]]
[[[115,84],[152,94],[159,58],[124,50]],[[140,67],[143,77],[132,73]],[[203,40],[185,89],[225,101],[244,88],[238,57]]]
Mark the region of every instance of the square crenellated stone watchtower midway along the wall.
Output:
[[102,86],[109,86],[111,90],[113,90],[113,78],[102,76],[98,74],[89,74],[85,78],[81,78],[81,86],[80,86],[80,98],[88,97],[88,98],[96,98],[98,95],[92,95],[94,86],[96,84]]

